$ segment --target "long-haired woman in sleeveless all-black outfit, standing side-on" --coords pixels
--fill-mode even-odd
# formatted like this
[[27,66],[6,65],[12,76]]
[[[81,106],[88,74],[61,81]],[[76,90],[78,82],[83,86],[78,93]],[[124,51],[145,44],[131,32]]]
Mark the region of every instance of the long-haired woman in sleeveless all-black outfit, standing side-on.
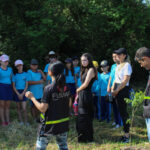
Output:
[[97,79],[97,70],[92,63],[90,54],[85,53],[81,56],[81,82],[82,85],[77,89],[79,95],[77,132],[78,142],[93,141],[93,99],[91,87]]

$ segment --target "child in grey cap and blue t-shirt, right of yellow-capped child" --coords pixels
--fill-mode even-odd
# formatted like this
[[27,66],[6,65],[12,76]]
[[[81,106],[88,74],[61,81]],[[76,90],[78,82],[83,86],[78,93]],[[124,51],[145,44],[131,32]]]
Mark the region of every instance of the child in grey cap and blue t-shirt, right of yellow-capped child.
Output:
[[109,65],[107,60],[103,60],[101,62],[101,82],[100,82],[100,89],[101,89],[101,121],[107,119],[107,123],[110,121],[110,114],[111,114],[111,104],[106,101],[107,93],[107,85],[110,77],[110,72],[108,72]]

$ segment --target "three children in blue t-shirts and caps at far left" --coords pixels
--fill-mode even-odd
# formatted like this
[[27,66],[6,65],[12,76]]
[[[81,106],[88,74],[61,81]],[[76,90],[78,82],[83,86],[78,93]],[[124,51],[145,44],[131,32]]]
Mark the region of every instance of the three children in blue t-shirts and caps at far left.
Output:
[[[25,93],[27,90],[31,91],[40,101],[43,96],[46,76],[42,70],[38,69],[36,59],[31,60],[28,71],[25,71],[24,63],[20,59],[14,62],[14,69],[9,67],[9,56],[5,54],[0,57],[0,63],[0,117],[2,126],[7,126],[10,123],[9,106],[12,100],[17,103],[20,124],[29,125]],[[31,101],[30,105],[33,117],[38,119],[38,110]]]

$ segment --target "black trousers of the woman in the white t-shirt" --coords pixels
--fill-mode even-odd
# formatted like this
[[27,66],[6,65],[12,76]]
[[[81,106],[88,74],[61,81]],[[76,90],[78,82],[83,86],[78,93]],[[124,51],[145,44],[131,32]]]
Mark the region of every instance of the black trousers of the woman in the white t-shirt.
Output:
[[127,103],[125,102],[125,98],[129,97],[129,87],[124,87],[116,96],[116,103],[123,121],[123,128],[125,133],[129,133],[130,124],[127,123],[129,119],[129,115],[127,112]]

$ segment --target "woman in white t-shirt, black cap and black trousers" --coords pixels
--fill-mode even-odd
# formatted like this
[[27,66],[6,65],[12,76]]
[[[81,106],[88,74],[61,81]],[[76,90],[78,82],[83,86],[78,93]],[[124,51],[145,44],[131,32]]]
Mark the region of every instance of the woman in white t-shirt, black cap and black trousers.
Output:
[[125,135],[121,138],[121,141],[128,143],[129,123],[127,123],[127,120],[129,116],[124,98],[129,97],[129,81],[132,74],[132,67],[128,62],[128,55],[125,48],[120,48],[116,50],[115,53],[117,54],[117,59],[120,64],[116,68],[112,96],[115,96],[116,98],[116,103],[123,121]]

